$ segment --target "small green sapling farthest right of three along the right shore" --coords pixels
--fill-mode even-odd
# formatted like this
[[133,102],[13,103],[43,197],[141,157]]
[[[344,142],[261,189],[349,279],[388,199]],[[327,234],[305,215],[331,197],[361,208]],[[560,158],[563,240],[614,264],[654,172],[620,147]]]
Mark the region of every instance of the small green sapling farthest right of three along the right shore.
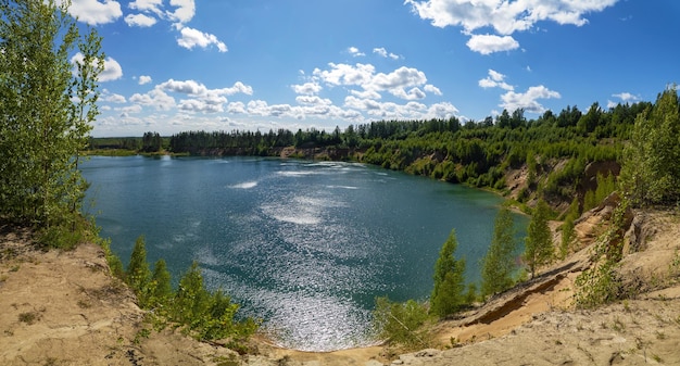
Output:
[[547,226],[550,207],[543,200],[539,200],[527,228],[524,260],[536,276],[536,269],[551,263],[555,256],[553,236]]

